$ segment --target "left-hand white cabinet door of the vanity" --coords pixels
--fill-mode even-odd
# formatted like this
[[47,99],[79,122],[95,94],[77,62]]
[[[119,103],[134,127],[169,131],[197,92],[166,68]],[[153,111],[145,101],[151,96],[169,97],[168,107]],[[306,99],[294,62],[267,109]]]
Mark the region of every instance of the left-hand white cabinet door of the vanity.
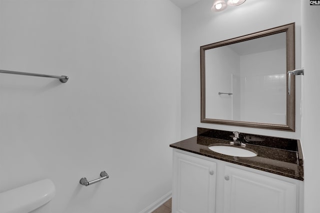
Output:
[[172,213],[214,213],[213,162],[173,152]]

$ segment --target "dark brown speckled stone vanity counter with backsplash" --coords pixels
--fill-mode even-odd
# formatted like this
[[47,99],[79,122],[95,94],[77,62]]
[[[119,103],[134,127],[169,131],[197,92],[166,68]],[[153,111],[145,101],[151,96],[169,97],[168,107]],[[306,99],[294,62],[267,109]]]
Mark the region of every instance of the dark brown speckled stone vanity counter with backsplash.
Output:
[[211,144],[229,144],[232,132],[198,128],[197,136],[170,147],[245,167],[303,181],[303,156],[299,140],[241,133],[240,141],[255,157],[233,157],[211,151]]

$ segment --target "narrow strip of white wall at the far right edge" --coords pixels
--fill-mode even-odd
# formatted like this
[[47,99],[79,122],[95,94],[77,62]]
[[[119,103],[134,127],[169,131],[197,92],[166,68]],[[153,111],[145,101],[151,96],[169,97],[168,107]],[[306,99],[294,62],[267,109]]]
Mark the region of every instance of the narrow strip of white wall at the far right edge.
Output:
[[320,6],[309,5],[301,0],[301,38],[302,38],[302,131],[304,154],[304,212],[318,213],[319,176],[318,170],[320,143],[318,140],[320,121]]

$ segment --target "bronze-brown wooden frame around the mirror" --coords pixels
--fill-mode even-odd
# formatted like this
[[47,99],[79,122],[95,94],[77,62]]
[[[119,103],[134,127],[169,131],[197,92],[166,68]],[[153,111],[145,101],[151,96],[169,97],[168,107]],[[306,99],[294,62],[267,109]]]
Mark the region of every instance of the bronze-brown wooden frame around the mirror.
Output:
[[266,29],[263,31],[200,46],[200,80],[201,80],[201,123],[232,125],[251,128],[295,132],[295,77],[291,75],[291,93],[286,92],[286,124],[269,124],[245,121],[222,120],[205,117],[205,50],[233,43],[260,38],[276,33],[286,32],[286,88],[288,85],[288,71],[295,69],[295,30],[294,23]]

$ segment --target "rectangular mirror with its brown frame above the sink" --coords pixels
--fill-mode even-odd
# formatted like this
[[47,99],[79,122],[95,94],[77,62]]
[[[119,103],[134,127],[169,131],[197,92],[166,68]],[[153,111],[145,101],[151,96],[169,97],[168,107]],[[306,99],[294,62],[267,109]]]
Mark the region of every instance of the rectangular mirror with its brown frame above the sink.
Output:
[[294,57],[294,23],[201,46],[201,122],[294,132]]

